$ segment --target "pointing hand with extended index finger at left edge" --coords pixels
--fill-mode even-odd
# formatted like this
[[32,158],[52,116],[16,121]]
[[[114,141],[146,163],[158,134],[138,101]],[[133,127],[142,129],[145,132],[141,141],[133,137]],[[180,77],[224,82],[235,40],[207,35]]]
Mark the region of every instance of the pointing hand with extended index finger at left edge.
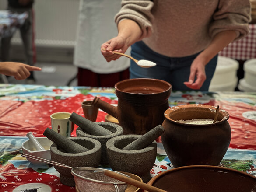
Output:
[[14,76],[16,80],[26,79],[30,76],[29,71],[40,71],[41,68],[18,62],[0,62],[0,74]]

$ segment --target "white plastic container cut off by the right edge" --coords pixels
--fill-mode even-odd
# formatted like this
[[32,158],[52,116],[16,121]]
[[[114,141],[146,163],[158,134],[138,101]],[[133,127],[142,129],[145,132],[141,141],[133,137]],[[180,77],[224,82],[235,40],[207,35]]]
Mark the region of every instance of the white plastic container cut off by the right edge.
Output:
[[256,91],[256,59],[249,59],[244,63],[245,77],[239,81],[240,91]]

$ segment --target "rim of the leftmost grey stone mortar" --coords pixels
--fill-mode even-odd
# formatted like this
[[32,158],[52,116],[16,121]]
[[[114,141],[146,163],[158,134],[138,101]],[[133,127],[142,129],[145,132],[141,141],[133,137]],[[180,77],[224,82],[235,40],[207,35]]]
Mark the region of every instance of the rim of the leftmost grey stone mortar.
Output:
[[98,150],[101,150],[101,147],[102,147],[102,144],[98,140],[95,140],[93,138],[80,136],[80,137],[68,137],[68,139],[88,140],[88,141],[91,141],[91,143],[96,143],[96,144],[95,144],[95,147],[93,149],[82,152],[82,153],[65,153],[65,152],[62,152],[62,151],[58,150],[58,146],[55,143],[53,143],[50,147],[51,152],[54,153],[54,154],[60,155],[60,156],[65,156],[65,157],[74,157],[74,154],[75,154],[75,157],[82,157],[82,156],[85,156],[85,155],[94,154]]

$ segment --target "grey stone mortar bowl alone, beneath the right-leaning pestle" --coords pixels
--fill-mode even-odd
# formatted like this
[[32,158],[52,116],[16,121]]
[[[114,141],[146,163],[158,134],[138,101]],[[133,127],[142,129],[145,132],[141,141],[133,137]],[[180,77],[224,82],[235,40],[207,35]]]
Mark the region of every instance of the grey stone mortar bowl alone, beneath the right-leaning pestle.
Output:
[[122,150],[141,135],[116,136],[106,143],[109,165],[114,171],[124,171],[142,178],[143,182],[151,179],[150,170],[153,168],[157,154],[157,143],[154,141],[148,147],[140,150]]

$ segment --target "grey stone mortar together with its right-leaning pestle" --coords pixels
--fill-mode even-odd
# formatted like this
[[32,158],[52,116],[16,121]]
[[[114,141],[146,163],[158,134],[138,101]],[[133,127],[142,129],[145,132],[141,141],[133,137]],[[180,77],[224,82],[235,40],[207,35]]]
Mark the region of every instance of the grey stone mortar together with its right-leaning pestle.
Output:
[[158,125],[143,136],[121,135],[108,140],[106,151],[112,170],[129,172],[148,182],[157,153],[157,143],[154,140],[163,131],[164,128]]

